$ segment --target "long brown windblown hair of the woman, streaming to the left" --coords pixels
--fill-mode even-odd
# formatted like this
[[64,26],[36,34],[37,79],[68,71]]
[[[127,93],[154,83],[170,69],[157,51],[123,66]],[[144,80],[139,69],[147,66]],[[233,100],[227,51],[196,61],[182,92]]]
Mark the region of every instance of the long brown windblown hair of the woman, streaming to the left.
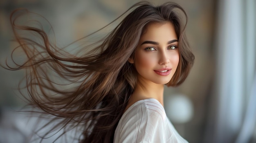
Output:
[[[5,68],[25,69],[30,105],[40,108],[42,113],[54,115],[54,119],[61,119],[53,128],[82,128],[80,142],[113,142],[115,128],[137,82],[136,70],[128,58],[134,55],[148,24],[172,22],[175,26],[180,62],[167,86],[180,85],[193,65],[194,55],[185,36],[187,15],[182,7],[173,2],[157,7],[148,2],[138,2],[128,11],[131,12],[103,38],[101,44],[90,45],[93,49],[79,56],[49,42],[42,29],[18,25],[16,19],[20,15],[15,16],[16,12],[11,15],[12,29],[19,44],[17,48],[22,49],[27,58],[22,64],[13,60],[16,67],[7,64]],[[22,37],[18,30],[32,31],[42,41]],[[76,86],[65,90],[59,88],[63,85],[56,83],[48,70],[68,81],[68,85]],[[47,134],[49,132],[45,136]]]

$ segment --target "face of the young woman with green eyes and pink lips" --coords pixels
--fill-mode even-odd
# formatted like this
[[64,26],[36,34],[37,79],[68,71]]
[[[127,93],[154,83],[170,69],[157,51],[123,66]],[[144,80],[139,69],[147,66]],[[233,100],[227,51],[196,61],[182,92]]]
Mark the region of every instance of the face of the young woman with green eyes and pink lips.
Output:
[[179,63],[177,35],[171,22],[149,24],[139,40],[133,63],[141,82],[167,84]]

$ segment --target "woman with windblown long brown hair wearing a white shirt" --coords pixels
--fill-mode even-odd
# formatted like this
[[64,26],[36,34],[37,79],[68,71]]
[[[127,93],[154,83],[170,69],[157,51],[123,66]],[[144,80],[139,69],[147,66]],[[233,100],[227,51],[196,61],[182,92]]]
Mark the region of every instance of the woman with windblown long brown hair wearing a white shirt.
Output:
[[[17,48],[27,61],[7,68],[26,69],[29,103],[54,115],[52,121],[61,119],[53,129],[82,128],[81,143],[186,143],[163,108],[164,85],[182,84],[193,65],[186,13],[173,2],[157,7],[139,2],[130,9],[101,44],[79,56],[51,44],[43,30],[17,25],[12,15]],[[17,30],[32,31],[43,42]],[[76,86],[59,88],[63,85],[52,80],[49,69]]]

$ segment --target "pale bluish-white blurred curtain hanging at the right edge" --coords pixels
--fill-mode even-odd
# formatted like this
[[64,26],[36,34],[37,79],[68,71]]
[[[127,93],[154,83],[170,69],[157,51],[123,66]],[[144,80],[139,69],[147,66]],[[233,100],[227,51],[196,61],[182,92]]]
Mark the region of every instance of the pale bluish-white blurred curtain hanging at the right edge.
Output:
[[256,128],[256,0],[219,0],[206,143],[249,143]]

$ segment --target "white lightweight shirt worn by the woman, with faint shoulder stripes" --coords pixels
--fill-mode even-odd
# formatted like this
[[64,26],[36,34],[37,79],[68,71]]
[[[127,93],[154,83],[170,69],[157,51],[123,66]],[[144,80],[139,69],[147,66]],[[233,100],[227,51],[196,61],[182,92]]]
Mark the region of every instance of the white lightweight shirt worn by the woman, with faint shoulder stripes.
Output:
[[132,104],[121,117],[114,143],[188,143],[167,118],[164,107],[156,99]]

